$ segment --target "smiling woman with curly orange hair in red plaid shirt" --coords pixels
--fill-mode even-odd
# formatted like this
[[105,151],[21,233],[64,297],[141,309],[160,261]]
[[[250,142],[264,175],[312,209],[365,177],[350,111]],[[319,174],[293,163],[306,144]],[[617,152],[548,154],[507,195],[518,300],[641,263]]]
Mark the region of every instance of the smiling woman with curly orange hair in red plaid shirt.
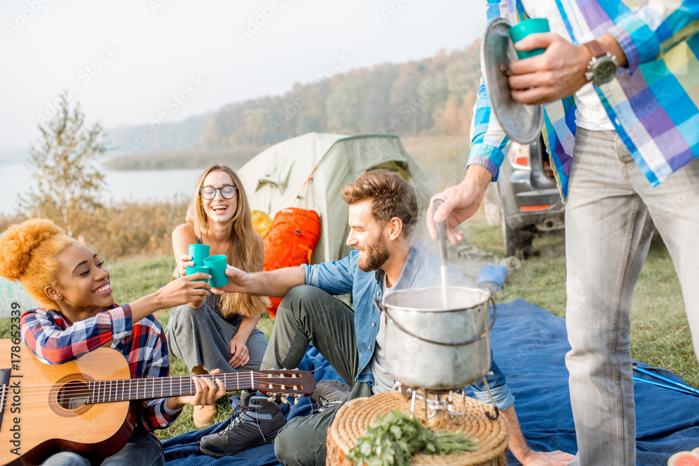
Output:
[[[22,341],[43,363],[73,361],[108,342],[127,358],[131,377],[166,377],[167,342],[152,312],[207,296],[197,288],[206,278],[194,274],[167,284],[155,293],[117,307],[109,272],[97,254],[81,240],[67,236],[50,220],[31,219],[10,226],[0,237],[0,276],[19,279],[41,309],[22,315]],[[175,421],[184,405],[211,405],[225,393],[207,379],[194,378],[196,393],[136,402],[137,417],[129,442],[102,465],[164,465],[163,450],[152,434]],[[90,465],[77,453],[63,451],[44,465]]]

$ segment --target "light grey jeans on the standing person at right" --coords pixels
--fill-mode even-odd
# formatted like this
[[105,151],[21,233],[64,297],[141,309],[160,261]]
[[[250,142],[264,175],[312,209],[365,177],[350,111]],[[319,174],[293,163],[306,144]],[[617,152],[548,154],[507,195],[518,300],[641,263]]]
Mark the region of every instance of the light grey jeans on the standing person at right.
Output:
[[565,207],[571,465],[635,465],[629,314],[654,226],[699,356],[699,160],[651,187],[617,133],[577,129]]

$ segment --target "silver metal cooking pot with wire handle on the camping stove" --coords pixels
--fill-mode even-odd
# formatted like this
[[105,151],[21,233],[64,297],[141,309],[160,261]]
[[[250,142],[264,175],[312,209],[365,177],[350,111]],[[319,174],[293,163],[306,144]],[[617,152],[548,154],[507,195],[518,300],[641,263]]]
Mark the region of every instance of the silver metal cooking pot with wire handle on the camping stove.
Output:
[[[398,290],[375,305],[385,312],[386,363],[403,386],[448,391],[485,377],[490,370],[490,294],[482,289],[452,286],[449,303],[442,288]],[[495,303],[493,301],[493,309]]]

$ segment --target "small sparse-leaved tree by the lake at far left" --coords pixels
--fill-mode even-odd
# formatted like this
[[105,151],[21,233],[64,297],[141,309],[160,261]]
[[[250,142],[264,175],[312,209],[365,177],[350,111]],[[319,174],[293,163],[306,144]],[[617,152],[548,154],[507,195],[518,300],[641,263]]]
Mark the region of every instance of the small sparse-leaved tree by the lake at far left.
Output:
[[39,124],[41,138],[31,145],[29,168],[36,186],[20,195],[20,208],[32,217],[52,219],[73,235],[102,207],[104,175],[94,162],[108,148],[101,143],[101,124],[86,126],[80,103],[71,111],[65,95],[59,100],[55,116]]

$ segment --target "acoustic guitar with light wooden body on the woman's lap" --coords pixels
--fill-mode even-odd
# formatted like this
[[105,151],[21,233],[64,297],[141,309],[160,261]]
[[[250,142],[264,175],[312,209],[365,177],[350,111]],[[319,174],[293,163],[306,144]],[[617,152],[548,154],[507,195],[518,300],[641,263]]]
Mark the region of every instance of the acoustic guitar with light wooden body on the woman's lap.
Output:
[[[195,392],[192,377],[131,379],[129,364],[110,348],[76,361],[47,365],[18,339],[0,340],[0,464],[37,465],[52,453],[106,458],[131,437],[131,400]],[[202,377],[222,379],[226,391],[254,389],[301,397],[315,390],[308,371],[261,370]]]

